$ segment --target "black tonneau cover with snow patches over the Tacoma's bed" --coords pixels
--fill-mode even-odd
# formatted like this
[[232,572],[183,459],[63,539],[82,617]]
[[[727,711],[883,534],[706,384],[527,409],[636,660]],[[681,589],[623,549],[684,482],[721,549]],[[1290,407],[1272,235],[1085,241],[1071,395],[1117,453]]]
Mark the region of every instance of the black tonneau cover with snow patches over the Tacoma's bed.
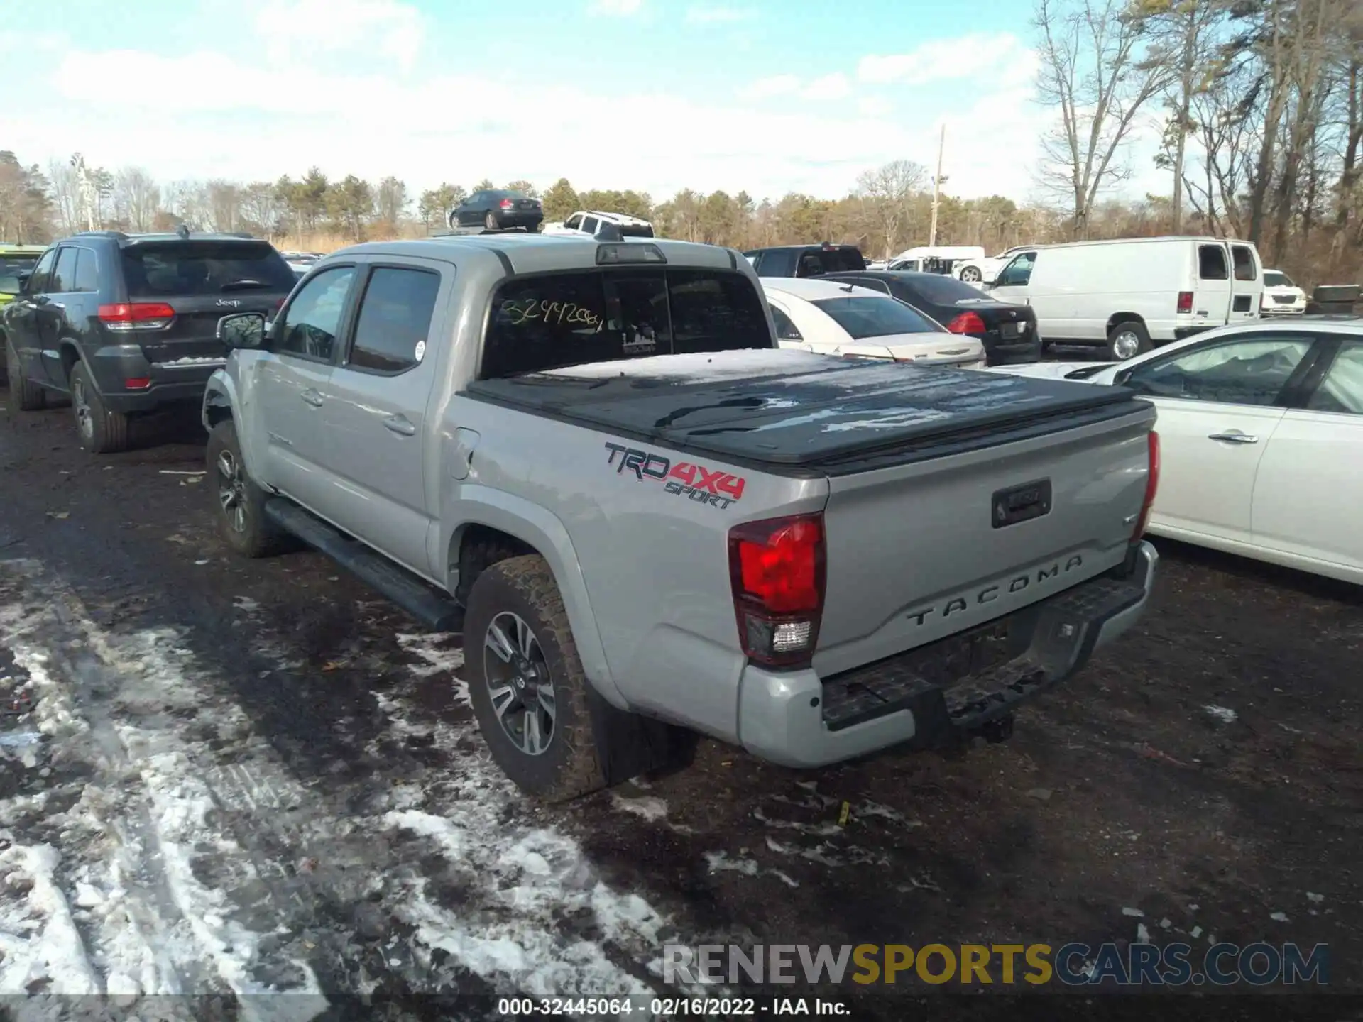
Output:
[[863,470],[891,452],[904,463],[1144,409],[1124,387],[789,349],[578,365],[478,380],[468,394],[796,473]]

